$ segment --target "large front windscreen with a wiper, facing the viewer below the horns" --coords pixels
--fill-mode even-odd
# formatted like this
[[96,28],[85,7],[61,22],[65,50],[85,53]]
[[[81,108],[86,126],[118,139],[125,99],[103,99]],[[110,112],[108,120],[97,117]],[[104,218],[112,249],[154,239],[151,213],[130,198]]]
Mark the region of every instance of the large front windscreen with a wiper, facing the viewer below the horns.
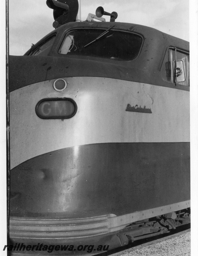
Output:
[[59,53],[130,61],[138,56],[142,40],[141,36],[130,32],[73,30],[66,34]]

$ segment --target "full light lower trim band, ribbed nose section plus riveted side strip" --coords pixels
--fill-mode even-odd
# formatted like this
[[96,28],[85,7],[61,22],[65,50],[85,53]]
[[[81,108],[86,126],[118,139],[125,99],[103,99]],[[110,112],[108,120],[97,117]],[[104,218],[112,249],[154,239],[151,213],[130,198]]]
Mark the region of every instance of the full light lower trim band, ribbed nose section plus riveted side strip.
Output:
[[107,214],[79,219],[14,219],[10,218],[10,237],[28,239],[65,239],[107,234],[127,225],[190,207],[190,200],[121,216]]

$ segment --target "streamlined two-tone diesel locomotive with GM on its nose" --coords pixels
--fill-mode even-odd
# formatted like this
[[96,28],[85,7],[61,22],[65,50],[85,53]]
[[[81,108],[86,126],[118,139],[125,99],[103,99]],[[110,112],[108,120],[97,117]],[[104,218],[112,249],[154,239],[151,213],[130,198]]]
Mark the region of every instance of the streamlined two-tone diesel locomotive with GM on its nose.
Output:
[[189,43],[68,2],[9,56],[10,243],[112,249],[189,223]]

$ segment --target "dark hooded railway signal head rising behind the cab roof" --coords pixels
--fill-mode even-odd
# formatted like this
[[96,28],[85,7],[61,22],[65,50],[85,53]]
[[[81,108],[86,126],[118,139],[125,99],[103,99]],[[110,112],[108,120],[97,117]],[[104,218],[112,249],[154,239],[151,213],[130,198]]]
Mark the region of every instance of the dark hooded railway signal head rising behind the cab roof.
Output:
[[46,4],[53,9],[54,28],[76,20],[79,9],[78,0],[47,0]]

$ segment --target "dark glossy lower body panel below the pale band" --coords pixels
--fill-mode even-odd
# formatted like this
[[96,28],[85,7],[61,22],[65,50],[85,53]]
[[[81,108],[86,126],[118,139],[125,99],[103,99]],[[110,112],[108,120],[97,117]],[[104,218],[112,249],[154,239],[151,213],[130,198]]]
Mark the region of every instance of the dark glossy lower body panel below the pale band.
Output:
[[74,151],[49,152],[12,170],[11,216],[119,216],[180,202],[181,192],[182,201],[190,197],[189,143],[84,145],[78,158]]

